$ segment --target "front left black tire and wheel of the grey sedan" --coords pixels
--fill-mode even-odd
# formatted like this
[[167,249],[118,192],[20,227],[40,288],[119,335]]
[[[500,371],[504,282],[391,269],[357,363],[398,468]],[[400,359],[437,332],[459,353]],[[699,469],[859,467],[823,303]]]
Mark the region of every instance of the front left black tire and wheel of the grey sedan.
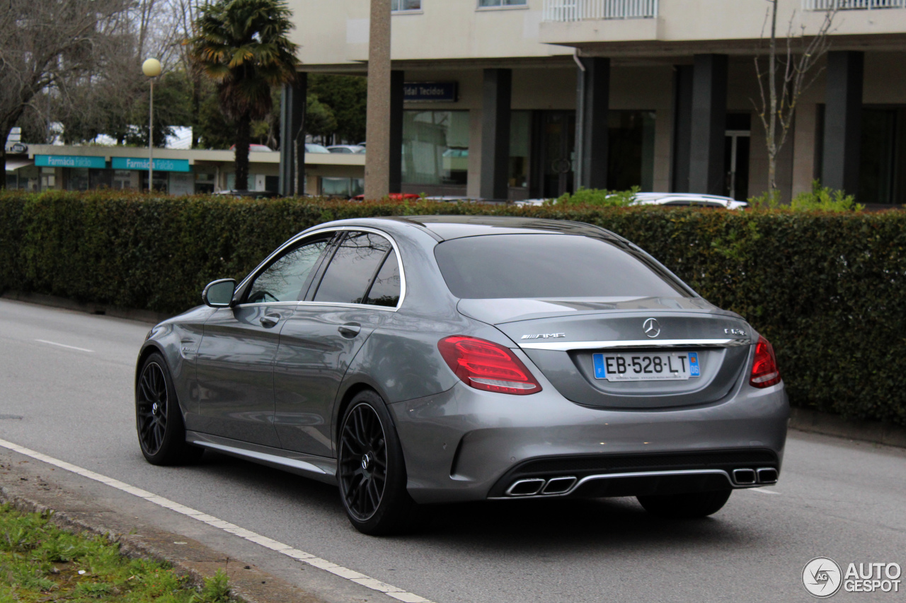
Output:
[[191,464],[204,449],[186,443],[186,425],[167,362],[155,352],[141,365],[135,388],[135,427],[150,464]]

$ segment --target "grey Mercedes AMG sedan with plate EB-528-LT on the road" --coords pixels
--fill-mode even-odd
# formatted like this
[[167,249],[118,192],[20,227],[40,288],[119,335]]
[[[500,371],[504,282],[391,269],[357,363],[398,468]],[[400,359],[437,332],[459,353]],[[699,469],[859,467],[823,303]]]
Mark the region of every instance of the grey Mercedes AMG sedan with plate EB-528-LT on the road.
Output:
[[141,347],[142,454],[335,483],[368,534],[458,501],[635,496],[702,517],[780,472],[771,344],[596,226],[332,222],[202,299]]

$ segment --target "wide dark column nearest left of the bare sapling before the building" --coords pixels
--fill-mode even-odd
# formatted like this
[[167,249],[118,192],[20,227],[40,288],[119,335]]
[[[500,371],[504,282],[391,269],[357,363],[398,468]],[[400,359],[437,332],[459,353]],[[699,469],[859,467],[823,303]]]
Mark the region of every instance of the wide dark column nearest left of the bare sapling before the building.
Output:
[[689,192],[724,193],[727,55],[696,54],[692,71]]

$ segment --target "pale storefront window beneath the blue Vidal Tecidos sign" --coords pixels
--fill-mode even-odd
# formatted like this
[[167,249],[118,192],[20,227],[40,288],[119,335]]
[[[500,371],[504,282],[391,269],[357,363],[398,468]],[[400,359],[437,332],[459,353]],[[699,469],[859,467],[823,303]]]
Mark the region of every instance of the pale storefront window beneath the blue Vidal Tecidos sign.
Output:
[[405,111],[402,181],[465,185],[468,179],[468,111]]

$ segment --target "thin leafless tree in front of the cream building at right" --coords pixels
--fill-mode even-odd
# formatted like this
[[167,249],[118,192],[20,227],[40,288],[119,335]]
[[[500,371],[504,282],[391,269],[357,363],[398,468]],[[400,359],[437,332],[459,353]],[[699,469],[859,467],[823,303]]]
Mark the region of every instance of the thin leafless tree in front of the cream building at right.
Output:
[[[834,7],[824,13],[824,20],[814,35],[805,35],[805,24],[795,31],[795,11],[786,28],[786,51],[777,50],[777,0],[767,0],[770,6],[765,16],[765,24],[770,21],[771,37],[767,53],[767,68],[762,57],[755,55],[755,73],[758,79],[758,91],[761,94],[760,104],[752,101],[765,127],[767,146],[767,187],[771,196],[777,191],[777,155],[786,143],[790,128],[793,126],[796,106],[803,92],[814,83],[824,63],[821,60],[830,48],[831,27],[837,9]],[[764,28],[762,29],[764,38]],[[796,48],[794,49],[794,46]],[[815,69],[816,65],[820,66]],[[765,84],[767,80],[767,84]]]

